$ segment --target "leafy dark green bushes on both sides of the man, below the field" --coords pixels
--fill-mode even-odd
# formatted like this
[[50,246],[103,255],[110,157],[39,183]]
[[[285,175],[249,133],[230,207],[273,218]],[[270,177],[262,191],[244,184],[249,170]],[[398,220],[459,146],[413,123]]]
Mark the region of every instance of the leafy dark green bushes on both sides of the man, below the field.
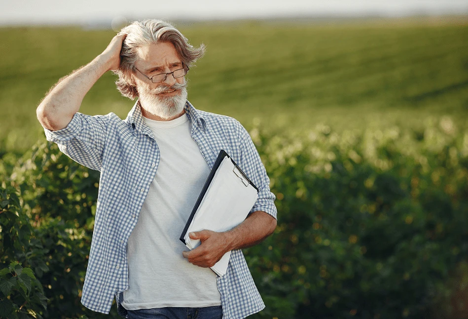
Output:
[[[468,131],[443,117],[419,131],[250,133],[279,218],[245,249],[266,303],[252,318],[468,317]],[[101,318],[79,303],[99,173],[39,142],[3,156],[0,176],[0,272],[15,277],[19,262],[41,283],[27,289],[36,299],[1,289],[1,302],[36,318]]]

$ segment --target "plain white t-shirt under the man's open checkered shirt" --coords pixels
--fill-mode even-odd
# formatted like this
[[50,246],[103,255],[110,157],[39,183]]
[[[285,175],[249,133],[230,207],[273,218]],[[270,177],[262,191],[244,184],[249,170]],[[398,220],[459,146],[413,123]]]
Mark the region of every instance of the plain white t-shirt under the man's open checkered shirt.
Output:
[[128,239],[128,310],[221,305],[216,274],[190,264],[179,240],[210,169],[184,114],[170,121],[144,118],[160,150],[156,175]]

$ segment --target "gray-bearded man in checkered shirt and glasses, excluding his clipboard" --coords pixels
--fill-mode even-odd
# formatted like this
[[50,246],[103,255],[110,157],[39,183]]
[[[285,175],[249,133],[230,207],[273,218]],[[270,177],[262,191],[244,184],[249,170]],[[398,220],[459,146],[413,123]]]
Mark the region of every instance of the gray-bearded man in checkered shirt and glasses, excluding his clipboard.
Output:
[[[274,195],[247,131],[187,100],[190,66],[204,54],[172,25],[134,22],[86,66],[60,80],[37,108],[49,141],[101,171],[95,226],[81,302],[108,313],[115,296],[127,318],[245,318],[264,308],[241,248],[276,227]],[[125,120],[78,113],[107,71],[122,95],[138,98]],[[258,187],[249,216],[227,232],[180,233],[219,151]],[[209,268],[232,250],[226,275]]]

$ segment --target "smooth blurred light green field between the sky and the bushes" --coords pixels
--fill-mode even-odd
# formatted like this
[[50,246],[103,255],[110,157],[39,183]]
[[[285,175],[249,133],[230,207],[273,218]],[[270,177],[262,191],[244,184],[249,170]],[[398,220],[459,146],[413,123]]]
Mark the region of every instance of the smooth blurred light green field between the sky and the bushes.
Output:
[[[195,107],[247,128],[334,130],[430,116],[468,119],[468,19],[224,22],[178,25],[207,54],[189,73]],[[0,29],[0,150],[24,151],[43,133],[35,109],[48,88],[99,54],[113,36],[81,28]],[[110,73],[81,112],[125,117],[133,102]]]

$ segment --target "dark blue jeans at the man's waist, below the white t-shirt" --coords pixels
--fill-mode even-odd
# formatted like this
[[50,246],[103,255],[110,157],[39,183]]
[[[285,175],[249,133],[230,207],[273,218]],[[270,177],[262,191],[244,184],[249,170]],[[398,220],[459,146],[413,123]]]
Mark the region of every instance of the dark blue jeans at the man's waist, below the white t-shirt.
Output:
[[127,310],[128,319],[222,319],[222,307],[165,307]]

